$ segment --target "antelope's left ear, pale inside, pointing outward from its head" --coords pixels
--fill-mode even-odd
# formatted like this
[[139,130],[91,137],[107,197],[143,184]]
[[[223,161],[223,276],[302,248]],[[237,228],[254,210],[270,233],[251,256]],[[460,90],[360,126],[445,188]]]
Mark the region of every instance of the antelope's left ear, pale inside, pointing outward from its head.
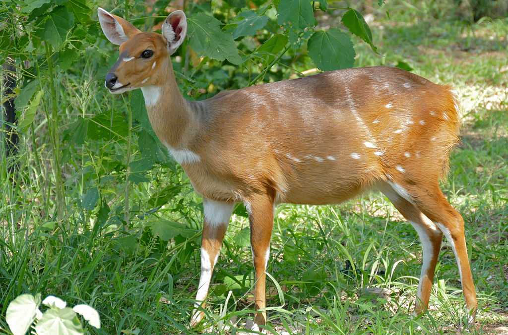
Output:
[[97,9],[97,14],[104,35],[106,35],[106,38],[113,44],[121,45],[123,42],[128,41],[131,37],[141,32],[133,26],[131,22],[110,14],[101,7]]

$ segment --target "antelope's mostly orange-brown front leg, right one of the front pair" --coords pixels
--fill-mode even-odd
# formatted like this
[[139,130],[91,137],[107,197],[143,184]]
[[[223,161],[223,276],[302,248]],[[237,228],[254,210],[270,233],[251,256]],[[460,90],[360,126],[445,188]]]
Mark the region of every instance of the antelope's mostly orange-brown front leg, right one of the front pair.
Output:
[[[270,239],[273,227],[273,200],[269,197],[247,203],[250,221],[250,245],[256,272],[255,309],[266,307],[266,266],[270,256]],[[266,323],[266,312],[256,312],[252,330]]]

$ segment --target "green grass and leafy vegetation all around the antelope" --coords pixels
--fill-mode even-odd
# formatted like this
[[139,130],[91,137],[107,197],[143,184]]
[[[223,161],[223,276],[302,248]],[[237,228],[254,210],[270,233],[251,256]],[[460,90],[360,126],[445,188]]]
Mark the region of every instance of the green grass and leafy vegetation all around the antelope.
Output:
[[[252,316],[248,222],[238,207],[205,320],[187,329],[200,274],[201,199],[154,137],[141,92],[113,96],[104,88],[118,53],[100,31],[99,6],[142,30],[150,30],[167,10],[185,9],[194,35],[174,64],[189,99],[328,66],[397,65],[453,84],[464,127],[442,187],[466,222],[480,304],[477,323],[468,331],[508,331],[506,2],[312,2],[314,13],[301,15],[302,25],[278,21],[276,13],[279,18],[294,15],[295,9],[308,13],[302,10],[308,3],[0,4],[0,62],[14,65],[17,81],[12,94],[1,90],[2,102],[16,97],[19,117],[17,124],[2,119],[4,130],[12,127],[19,134],[16,147],[7,130],[0,142],[1,333],[10,333],[6,309],[22,293],[53,294],[70,305],[96,308],[103,327],[85,325],[87,333],[236,333],[246,323],[248,328]],[[362,20],[350,27],[356,35],[344,27],[351,25],[344,7],[365,17],[371,36]],[[244,25],[246,18],[253,25]],[[347,46],[334,51],[307,44],[315,31],[325,30],[338,40],[347,35],[355,54]],[[200,44],[203,32],[211,40]],[[215,52],[210,45],[224,48]],[[329,53],[335,65],[323,56]],[[467,315],[455,257],[446,243],[430,313],[410,317],[421,247],[417,233],[382,195],[366,194],[340,206],[281,205],[276,212],[268,267],[269,331],[461,331]]]

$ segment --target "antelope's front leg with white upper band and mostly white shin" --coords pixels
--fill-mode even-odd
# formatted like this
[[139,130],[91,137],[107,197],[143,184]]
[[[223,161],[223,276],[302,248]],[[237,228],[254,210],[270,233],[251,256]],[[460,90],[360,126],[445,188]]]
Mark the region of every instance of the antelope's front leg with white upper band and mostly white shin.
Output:
[[224,234],[228,227],[233,203],[216,202],[203,198],[204,225],[201,242],[201,277],[199,279],[198,293],[190,326],[195,326],[203,319],[205,300],[212,278],[213,267],[217,262],[220,246],[224,240]]

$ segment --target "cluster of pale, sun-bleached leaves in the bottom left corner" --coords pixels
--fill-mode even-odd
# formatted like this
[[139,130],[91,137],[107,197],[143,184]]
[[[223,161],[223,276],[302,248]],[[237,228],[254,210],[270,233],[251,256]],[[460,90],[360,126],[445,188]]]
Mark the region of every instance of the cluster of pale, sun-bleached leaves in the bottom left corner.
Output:
[[88,305],[80,304],[71,309],[65,301],[52,295],[48,295],[42,304],[49,307],[44,313],[39,310],[40,293],[35,297],[21,294],[11,301],[7,307],[6,321],[13,335],[24,335],[36,319],[35,333],[38,335],[84,334],[77,314],[82,315],[92,326],[101,328],[99,314]]

